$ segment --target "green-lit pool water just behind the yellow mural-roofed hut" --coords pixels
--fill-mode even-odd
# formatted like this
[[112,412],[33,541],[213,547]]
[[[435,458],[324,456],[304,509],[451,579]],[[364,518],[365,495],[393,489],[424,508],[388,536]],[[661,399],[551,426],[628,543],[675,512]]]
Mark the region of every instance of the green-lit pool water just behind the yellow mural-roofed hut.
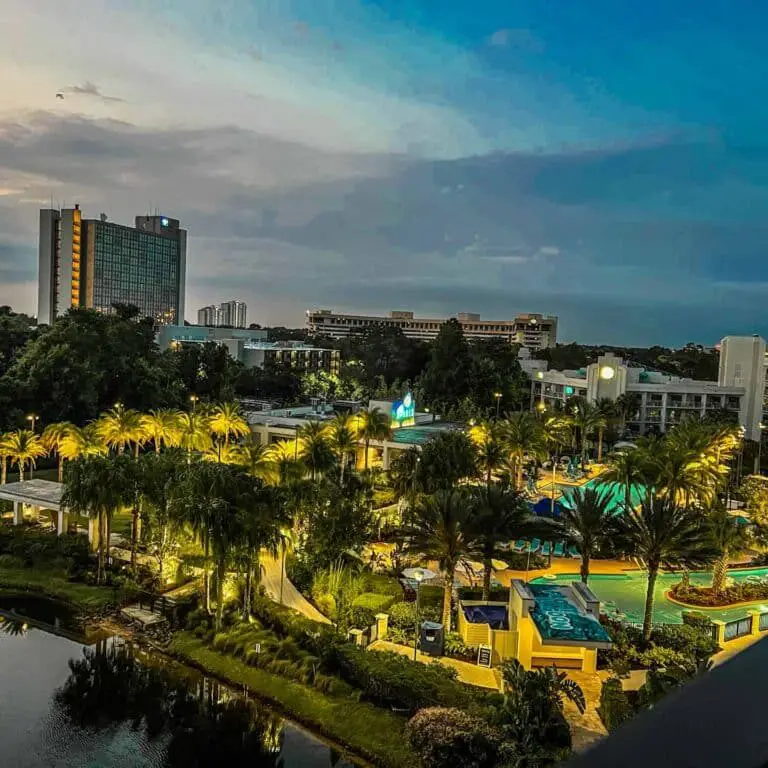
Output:
[[[746,570],[729,571],[728,576],[734,581],[743,581],[747,576],[768,576],[768,568],[749,568]],[[560,574],[555,579],[532,579],[534,584],[570,584],[578,581],[578,574]],[[709,571],[691,573],[692,584],[709,584],[712,574]],[[655,602],[653,606],[654,622],[663,624],[682,624],[682,611],[679,605],[667,600],[664,593],[680,581],[679,573],[660,574],[656,580]],[[625,615],[628,621],[642,622],[645,609],[645,592],[648,578],[644,571],[630,571],[620,575],[595,575],[589,577],[589,588],[600,600],[600,608],[605,613],[618,611]],[[748,610],[768,611],[768,600],[756,602],[739,608],[699,608],[713,619],[732,621],[743,618]]]

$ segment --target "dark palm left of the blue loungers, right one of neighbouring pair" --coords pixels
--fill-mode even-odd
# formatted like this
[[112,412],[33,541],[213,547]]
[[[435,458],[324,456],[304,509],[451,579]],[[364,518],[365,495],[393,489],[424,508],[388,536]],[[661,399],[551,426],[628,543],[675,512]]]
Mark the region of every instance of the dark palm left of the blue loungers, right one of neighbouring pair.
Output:
[[561,527],[553,520],[532,515],[518,492],[498,485],[471,489],[468,552],[483,563],[483,600],[490,597],[494,558],[503,559],[508,552],[502,544],[534,537],[550,541],[562,535]]

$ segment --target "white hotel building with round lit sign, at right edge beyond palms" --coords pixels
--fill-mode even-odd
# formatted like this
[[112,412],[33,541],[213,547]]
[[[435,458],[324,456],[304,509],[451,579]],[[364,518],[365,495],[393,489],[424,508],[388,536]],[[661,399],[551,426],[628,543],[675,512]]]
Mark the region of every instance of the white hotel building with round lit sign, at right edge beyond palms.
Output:
[[[630,367],[614,355],[578,371],[529,370],[533,407],[562,404],[571,397],[588,402],[637,396],[638,408],[627,425],[644,434],[666,431],[687,415],[729,411],[746,430],[747,440],[760,440],[764,411],[768,411],[766,343],[759,336],[726,336],[720,343],[717,381],[696,381]],[[542,403],[543,406],[539,405]]]

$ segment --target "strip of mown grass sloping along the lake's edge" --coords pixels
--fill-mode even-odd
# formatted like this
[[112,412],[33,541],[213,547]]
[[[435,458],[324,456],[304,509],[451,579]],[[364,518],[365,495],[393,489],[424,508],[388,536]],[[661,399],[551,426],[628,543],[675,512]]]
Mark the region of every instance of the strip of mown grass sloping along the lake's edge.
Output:
[[247,685],[288,717],[325,735],[375,765],[412,768],[416,757],[408,748],[406,719],[372,704],[332,697],[292,682],[239,659],[208,648],[187,632],[176,634],[170,652],[180,660],[232,685]]

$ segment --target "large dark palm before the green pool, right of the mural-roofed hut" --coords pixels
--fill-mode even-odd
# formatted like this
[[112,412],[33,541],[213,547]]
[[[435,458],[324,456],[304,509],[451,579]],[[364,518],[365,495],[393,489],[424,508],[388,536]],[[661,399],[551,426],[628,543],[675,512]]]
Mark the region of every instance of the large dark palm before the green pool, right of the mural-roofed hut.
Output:
[[643,503],[627,507],[617,515],[616,543],[629,555],[642,558],[648,571],[648,588],[643,616],[643,639],[648,641],[653,626],[653,599],[656,578],[662,566],[693,568],[717,557],[711,534],[700,514],[681,507],[650,491]]

